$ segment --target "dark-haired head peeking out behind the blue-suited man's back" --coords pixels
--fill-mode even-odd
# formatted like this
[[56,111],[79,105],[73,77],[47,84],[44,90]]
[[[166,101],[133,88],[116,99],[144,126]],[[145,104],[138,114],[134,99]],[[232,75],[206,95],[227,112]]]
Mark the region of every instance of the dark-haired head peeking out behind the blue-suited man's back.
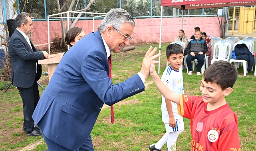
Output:
[[[77,43],[77,41],[79,41],[83,37],[85,37],[85,33],[84,33],[83,29],[81,29],[80,27],[73,27],[67,31],[66,37],[65,37],[65,42],[67,43],[67,45],[73,46],[73,45],[75,45],[75,43]],[[63,54],[63,56],[64,56],[64,54]]]

